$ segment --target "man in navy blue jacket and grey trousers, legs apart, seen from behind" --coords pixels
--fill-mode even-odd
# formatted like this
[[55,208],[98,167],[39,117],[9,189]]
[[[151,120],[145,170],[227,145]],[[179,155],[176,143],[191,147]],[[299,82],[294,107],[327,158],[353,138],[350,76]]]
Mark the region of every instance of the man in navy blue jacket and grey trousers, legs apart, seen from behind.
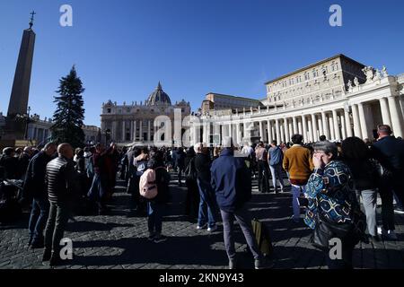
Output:
[[217,204],[222,214],[224,225],[224,246],[229,257],[229,269],[236,268],[236,252],[234,249],[234,217],[242,228],[255,259],[255,268],[269,268],[273,264],[266,262],[259,250],[251,226],[250,212],[245,205],[251,198],[251,176],[244,158],[234,157],[234,146],[231,137],[224,138],[224,150],[220,157],[212,163],[211,183],[215,191]]

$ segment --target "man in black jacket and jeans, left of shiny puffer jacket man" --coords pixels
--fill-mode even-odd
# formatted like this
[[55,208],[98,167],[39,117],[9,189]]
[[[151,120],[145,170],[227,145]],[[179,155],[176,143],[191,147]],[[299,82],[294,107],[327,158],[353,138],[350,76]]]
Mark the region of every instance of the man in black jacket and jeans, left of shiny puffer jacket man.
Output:
[[44,149],[31,159],[25,175],[23,197],[33,198],[30,223],[28,225],[28,230],[30,231],[28,244],[31,245],[31,248],[43,248],[44,245],[43,230],[49,213],[45,173],[47,164],[52,160],[52,155],[56,150],[55,143],[47,143]]

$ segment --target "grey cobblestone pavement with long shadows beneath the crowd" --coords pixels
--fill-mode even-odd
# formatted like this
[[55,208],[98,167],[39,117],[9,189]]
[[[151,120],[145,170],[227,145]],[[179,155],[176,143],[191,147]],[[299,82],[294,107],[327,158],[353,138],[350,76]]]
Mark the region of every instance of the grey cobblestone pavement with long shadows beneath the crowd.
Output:
[[[172,177],[175,179],[175,176]],[[121,184],[121,183],[120,183]],[[196,223],[184,216],[186,187],[171,182],[172,204],[163,221],[166,242],[155,244],[147,237],[145,217],[133,213],[130,196],[117,187],[107,216],[76,216],[68,223],[65,237],[73,239],[74,259],[57,268],[137,269],[226,268],[223,227],[210,234],[196,230]],[[265,222],[274,244],[275,268],[326,268],[322,253],[308,243],[311,231],[303,223],[294,223],[291,195],[259,194],[253,190],[249,203],[254,217]],[[380,214],[380,207],[378,208]],[[0,226],[0,269],[49,268],[40,262],[42,249],[27,247],[29,214],[14,225]],[[218,215],[218,218],[219,215]],[[359,244],[354,252],[356,268],[404,268],[404,216],[396,214],[397,241]],[[245,240],[237,229],[236,249],[242,268],[252,268],[252,258],[245,252]]]

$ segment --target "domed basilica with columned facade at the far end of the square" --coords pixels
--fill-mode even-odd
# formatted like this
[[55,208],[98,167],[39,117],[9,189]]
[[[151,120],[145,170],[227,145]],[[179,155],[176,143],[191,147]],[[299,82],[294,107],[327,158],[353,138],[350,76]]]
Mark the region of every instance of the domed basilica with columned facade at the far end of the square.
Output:
[[[120,145],[140,144],[148,145],[154,143],[160,125],[155,121],[156,117],[167,117],[173,125],[175,113],[180,113],[183,119],[190,115],[189,102],[181,100],[171,104],[171,99],[162,90],[161,83],[145,102],[132,102],[127,105],[117,105],[117,102],[109,100],[102,103],[101,112],[101,133],[104,143],[115,142]],[[174,129],[171,128],[172,135]],[[181,129],[181,133],[184,130]],[[161,139],[162,141],[164,139]]]

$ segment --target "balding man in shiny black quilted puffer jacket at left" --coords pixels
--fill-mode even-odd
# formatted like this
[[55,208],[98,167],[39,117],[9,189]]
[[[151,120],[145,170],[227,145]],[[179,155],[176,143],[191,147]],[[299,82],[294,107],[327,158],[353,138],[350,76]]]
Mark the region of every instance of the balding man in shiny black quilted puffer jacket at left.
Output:
[[61,262],[60,240],[63,239],[69,217],[70,198],[80,188],[77,186],[72,146],[69,143],[60,144],[57,146],[57,154],[58,157],[48,163],[46,172],[50,210],[42,261],[50,260],[49,265]]

